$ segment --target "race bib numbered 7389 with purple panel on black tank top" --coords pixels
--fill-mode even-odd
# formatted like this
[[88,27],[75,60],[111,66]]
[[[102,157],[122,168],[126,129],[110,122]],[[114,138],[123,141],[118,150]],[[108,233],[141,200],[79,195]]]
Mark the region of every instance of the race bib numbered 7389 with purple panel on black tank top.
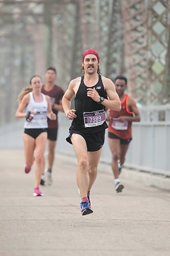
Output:
[[106,113],[104,110],[98,110],[94,112],[84,112],[84,127],[98,126],[104,123],[106,120]]

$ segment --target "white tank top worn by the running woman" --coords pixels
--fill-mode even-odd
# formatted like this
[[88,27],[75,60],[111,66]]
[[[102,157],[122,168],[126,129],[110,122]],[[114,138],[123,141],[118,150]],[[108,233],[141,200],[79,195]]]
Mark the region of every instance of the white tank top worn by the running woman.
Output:
[[48,103],[46,101],[45,95],[41,93],[43,101],[36,102],[33,97],[33,93],[30,92],[30,101],[26,107],[26,111],[34,111],[34,117],[31,122],[26,121],[24,128],[26,129],[41,129],[47,128],[47,107]]

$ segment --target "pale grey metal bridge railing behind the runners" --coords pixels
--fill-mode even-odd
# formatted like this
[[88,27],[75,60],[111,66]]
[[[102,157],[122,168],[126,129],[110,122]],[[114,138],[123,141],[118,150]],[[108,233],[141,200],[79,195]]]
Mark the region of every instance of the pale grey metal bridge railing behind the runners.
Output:
[[[139,108],[141,121],[133,122],[133,139],[126,156],[125,166],[144,172],[170,176],[170,104]],[[74,154],[73,147],[65,142],[71,124],[64,114],[59,115],[58,150]],[[107,140],[101,161],[110,163],[111,152]]]

